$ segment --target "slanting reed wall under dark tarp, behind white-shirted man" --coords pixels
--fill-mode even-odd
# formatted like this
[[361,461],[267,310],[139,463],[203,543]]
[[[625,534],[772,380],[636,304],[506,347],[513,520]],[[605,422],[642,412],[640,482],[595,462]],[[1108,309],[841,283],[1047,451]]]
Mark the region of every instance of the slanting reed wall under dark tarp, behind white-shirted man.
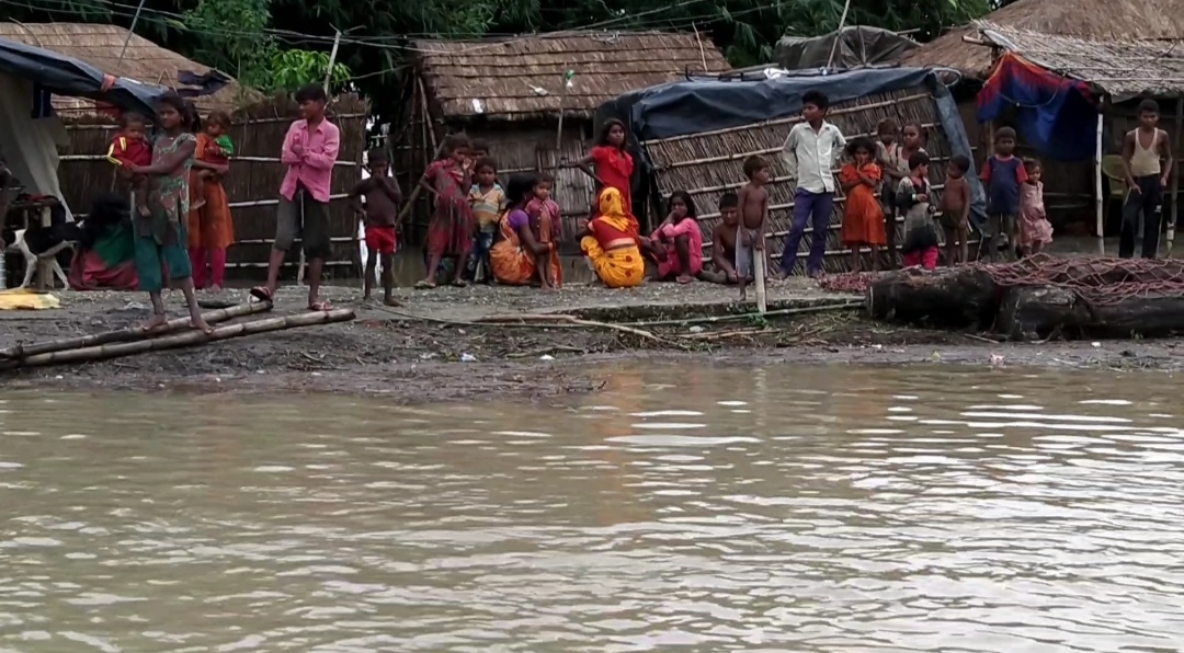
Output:
[[[928,142],[926,149],[932,160],[929,181],[933,183],[934,195],[940,198],[945,169],[952,150],[950,141],[941,129],[933,97],[924,86],[879,93],[837,104],[828,112],[826,119],[835,123],[848,138],[852,138],[874,136],[879,122],[888,117],[900,123],[916,121],[925,128]],[[770,172],[773,174],[773,180],[767,186],[770,194],[770,226],[766,234],[768,256],[771,260],[780,260],[785,237],[792,222],[793,193],[796,190],[796,185],[786,177],[785,162],[780,157],[780,151],[790,129],[799,122],[802,122],[800,117],[784,118],[643,143],[654,159],[654,163],[658,166],[657,186],[662,196],[669,198],[675,190],[686,190],[694,199],[699,209],[699,224],[703,232],[706,253],[710,251],[712,229],[720,219],[720,196],[728,190],[736,192],[747,183],[744,174],[744,161],[751,155],[759,154],[768,160]],[[835,214],[831,216],[828,233],[819,235],[813,233],[812,227],[806,226],[805,237],[799,245],[794,272],[805,272],[810,244],[819,237],[826,238],[824,269],[828,272],[848,271],[850,251],[843,247],[838,237],[842,215],[843,198],[839,189],[836,194]],[[896,241],[901,243],[903,240],[903,225],[899,224],[896,228]]]

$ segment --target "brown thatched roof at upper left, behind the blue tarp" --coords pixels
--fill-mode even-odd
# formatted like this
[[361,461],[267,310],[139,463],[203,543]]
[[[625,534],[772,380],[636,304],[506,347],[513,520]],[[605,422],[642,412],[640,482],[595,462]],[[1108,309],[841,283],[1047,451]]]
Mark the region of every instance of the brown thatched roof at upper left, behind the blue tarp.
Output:
[[[180,72],[195,75],[211,72],[210,66],[186,59],[116,25],[0,22],[0,38],[73,57],[107,75],[178,90],[186,88],[178,80]],[[127,51],[123,47],[124,43]],[[194,102],[202,112],[214,109],[231,111],[243,104],[244,99],[259,99],[253,96],[247,97],[249,95],[231,79],[218,92],[197,97]],[[95,104],[91,101],[72,97],[54,96],[53,108],[67,122],[95,112]]]

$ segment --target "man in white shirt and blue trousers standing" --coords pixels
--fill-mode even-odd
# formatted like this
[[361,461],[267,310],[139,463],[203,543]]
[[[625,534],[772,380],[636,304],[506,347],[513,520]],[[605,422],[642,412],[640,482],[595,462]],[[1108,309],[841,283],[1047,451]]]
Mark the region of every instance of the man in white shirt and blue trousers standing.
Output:
[[781,147],[781,156],[791,180],[797,182],[793,194],[793,224],[785,237],[781,254],[781,274],[789,277],[798,261],[798,245],[805,233],[806,222],[813,227],[810,237],[810,258],[806,273],[822,274],[823,256],[826,253],[826,234],[830,218],[835,212],[835,164],[838,162],[847,138],[837,127],[826,122],[830,101],[819,91],[802,93],[803,122],[793,125]]

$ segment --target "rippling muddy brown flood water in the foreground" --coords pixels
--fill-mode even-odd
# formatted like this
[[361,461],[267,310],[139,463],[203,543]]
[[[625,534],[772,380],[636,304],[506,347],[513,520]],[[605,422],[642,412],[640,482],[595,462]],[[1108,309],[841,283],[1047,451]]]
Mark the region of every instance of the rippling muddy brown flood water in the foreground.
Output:
[[1177,651],[1184,382],[7,395],[0,651]]

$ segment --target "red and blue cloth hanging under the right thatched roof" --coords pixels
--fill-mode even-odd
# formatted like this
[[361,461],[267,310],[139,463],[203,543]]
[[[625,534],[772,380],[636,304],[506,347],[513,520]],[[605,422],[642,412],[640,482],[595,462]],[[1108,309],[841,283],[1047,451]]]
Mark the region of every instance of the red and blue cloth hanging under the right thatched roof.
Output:
[[[1009,112],[1019,135],[1041,156],[1055,161],[1094,157],[1098,97],[1085,82],[1009,52],[996,63],[978,93],[978,119],[995,121]],[[1083,137],[1087,134],[1090,137]]]

